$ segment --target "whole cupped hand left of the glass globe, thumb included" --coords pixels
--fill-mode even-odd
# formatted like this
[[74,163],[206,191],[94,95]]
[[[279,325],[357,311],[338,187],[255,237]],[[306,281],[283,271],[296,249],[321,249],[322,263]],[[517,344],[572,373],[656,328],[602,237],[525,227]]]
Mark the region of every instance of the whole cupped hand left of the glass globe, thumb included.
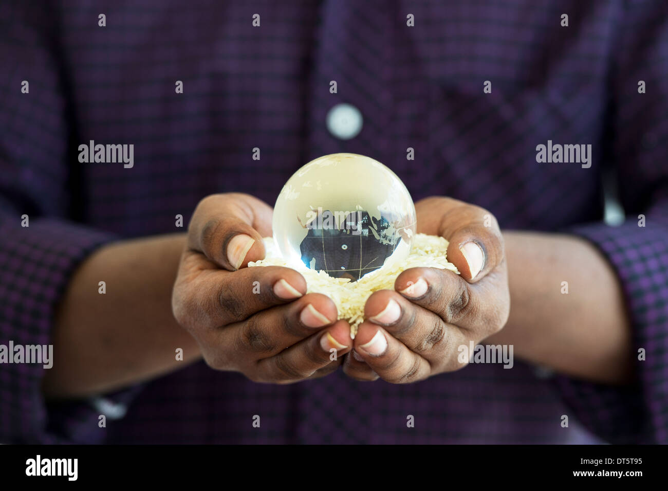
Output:
[[[176,321],[206,363],[257,382],[292,383],[337,369],[351,349],[333,301],[306,293],[285,267],[248,268],[265,257],[273,210],[248,194],[212,194],[197,205],[172,292]],[[332,361],[330,350],[337,349]]]

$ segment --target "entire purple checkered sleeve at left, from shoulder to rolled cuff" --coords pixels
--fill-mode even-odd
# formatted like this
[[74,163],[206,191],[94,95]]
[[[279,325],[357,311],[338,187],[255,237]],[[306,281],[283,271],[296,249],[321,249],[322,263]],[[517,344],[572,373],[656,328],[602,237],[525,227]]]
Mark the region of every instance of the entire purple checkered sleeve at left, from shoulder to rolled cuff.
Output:
[[73,219],[77,188],[68,163],[77,160],[69,155],[66,84],[52,52],[55,18],[41,2],[0,6],[0,443],[5,444],[101,442],[100,408],[122,414],[118,405],[137,389],[106,396],[107,405],[98,399],[47,403],[41,395],[44,363],[25,358],[9,363],[10,357],[21,361],[10,347],[49,345],[57,304],[73,271],[116,239]]

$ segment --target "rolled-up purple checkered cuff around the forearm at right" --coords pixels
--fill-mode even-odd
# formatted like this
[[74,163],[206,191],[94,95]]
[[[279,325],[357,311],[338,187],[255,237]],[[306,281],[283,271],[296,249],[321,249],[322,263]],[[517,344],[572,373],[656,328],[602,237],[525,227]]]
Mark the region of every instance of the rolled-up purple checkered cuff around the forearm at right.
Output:
[[[617,271],[633,329],[636,380],[614,387],[557,375],[553,381],[589,430],[613,444],[668,443],[668,228],[629,220],[570,228]],[[587,326],[582,326],[586,329]]]

